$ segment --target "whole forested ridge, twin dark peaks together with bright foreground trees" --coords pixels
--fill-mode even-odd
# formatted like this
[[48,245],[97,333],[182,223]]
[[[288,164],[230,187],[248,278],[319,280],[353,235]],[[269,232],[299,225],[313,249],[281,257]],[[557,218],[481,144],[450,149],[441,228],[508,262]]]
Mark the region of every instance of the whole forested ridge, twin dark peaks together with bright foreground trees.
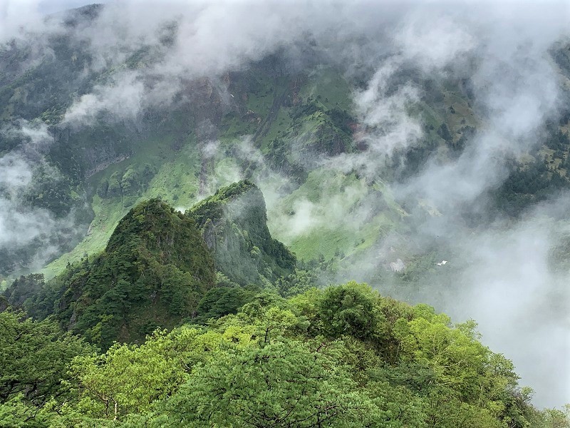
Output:
[[[316,287],[265,222],[247,180],[185,214],[149,200],[100,255],[14,281],[0,313],[0,425],[568,426],[532,406],[475,321],[366,284]],[[264,282],[229,280],[253,267]]]

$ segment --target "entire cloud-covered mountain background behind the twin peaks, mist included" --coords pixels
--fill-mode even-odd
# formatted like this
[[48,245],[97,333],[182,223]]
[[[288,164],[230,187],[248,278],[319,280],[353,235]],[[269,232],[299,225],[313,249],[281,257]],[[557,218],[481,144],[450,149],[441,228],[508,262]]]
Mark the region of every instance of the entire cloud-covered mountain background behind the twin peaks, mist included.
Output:
[[321,282],[474,317],[569,401],[566,2],[44,7],[0,3],[2,275],[249,178]]

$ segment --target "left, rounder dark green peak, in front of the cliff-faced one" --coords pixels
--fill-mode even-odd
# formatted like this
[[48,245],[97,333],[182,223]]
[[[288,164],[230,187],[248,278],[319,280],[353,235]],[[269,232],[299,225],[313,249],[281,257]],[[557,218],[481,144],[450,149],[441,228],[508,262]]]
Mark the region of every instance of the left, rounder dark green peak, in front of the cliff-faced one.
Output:
[[213,285],[214,260],[195,222],[154,199],[120,220],[103,253],[69,266],[27,308],[106,348],[191,317]]

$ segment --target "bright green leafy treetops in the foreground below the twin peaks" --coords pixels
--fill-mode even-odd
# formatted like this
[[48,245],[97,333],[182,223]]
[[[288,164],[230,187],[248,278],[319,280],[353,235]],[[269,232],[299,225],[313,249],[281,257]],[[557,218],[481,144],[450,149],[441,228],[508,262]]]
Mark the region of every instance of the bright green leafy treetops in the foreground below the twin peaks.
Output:
[[[25,322],[4,319],[2,338],[14,340]],[[0,396],[0,415],[19,427],[565,426],[564,412],[529,404],[512,362],[484,347],[476,327],[356,282],[289,299],[262,292],[207,327],[156,330],[104,353],[83,345],[53,374],[65,382],[41,402]],[[35,340],[45,370],[53,342]]]

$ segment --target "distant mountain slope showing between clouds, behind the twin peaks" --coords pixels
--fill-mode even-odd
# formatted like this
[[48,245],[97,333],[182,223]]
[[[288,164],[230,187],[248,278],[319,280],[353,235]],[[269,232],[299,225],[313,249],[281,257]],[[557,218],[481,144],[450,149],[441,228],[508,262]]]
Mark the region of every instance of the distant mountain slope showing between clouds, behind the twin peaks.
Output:
[[[1,125],[14,128],[0,134],[0,154],[19,153],[29,165],[43,159],[31,168],[26,186],[8,190],[0,183],[0,194],[9,195],[14,210],[38,210],[43,217],[53,218],[53,226],[38,230],[35,240],[0,248],[0,275],[38,269],[71,250],[46,270],[50,276],[58,274],[84,253],[102,250],[118,220],[149,198],[159,197],[185,209],[222,185],[249,178],[276,194],[269,204],[271,216],[285,218],[295,212],[294,205],[304,203],[303,195],[322,193],[319,186],[326,181],[318,183],[316,178],[328,175],[331,162],[327,161],[333,159],[333,169],[346,175],[347,183],[353,182],[355,173],[359,179],[369,173],[358,163],[352,165],[351,156],[368,153],[375,138],[381,141],[387,132],[363,121],[354,103],[370,72],[347,73],[321,56],[318,47],[311,47],[314,59],[303,66],[291,65],[278,52],[249,63],[244,70],[185,81],[167,108],[145,106],[133,116],[102,111],[85,124],[63,120],[63,113],[79,97],[118,84],[113,79],[123,72],[136,74],[160,62],[159,53],[142,49],[130,53],[118,68],[82,74],[83,65],[94,59],[86,46],[76,46],[73,34],[88,27],[93,16],[80,15],[79,21],[71,20],[66,26],[67,33],[46,40],[54,56],[33,66],[26,62],[31,53],[25,46],[4,46],[0,56],[4,67],[0,96],[6,101]],[[68,41],[73,42],[71,47]],[[162,48],[167,49],[167,44],[165,39]],[[562,68],[566,51],[560,52],[556,58],[561,73],[566,73]],[[26,72],[17,78],[16,71]],[[302,258],[318,258],[320,253],[329,258],[337,251],[358,253],[362,240],[369,246],[381,239],[378,230],[400,226],[394,220],[400,209],[394,204],[384,209],[385,195],[378,192],[378,182],[382,182],[382,193],[388,194],[392,183],[418,174],[430,159],[442,164],[454,161],[484,128],[484,112],[477,110],[469,81],[432,78],[404,67],[391,78],[386,96],[409,81],[418,87],[418,99],[410,101],[405,111],[418,120],[423,135],[417,143],[395,148],[385,162],[376,162],[383,167],[374,171],[373,180],[362,181],[370,189],[356,195],[362,196],[358,202],[376,207],[368,230],[358,231],[357,240],[351,240],[346,231],[318,227],[289,236],[270,221],[277,238]],[[21,120],[25,122],[14,125]],[[530,162],[512,160],[511,176],[490,195],[496,202],[494,209],[514,215],[568,185],[567,122],[563,116],[560,123],[551,124],[551,138],[529,153]],[[26,130],[41,131],[41,150]],[[370,198],[370,193],[380,196]],[[278,199],[286,203],[276,204]],[[410,206],[410,200],[405,202]],[[411,203],[418,205],[418,200]],[[339,212],[346,213],[353,205],[349,196],[348,205]],[[421,207],[418,212],[427,213]],[[317,242],[323,250],[316,248]]]

